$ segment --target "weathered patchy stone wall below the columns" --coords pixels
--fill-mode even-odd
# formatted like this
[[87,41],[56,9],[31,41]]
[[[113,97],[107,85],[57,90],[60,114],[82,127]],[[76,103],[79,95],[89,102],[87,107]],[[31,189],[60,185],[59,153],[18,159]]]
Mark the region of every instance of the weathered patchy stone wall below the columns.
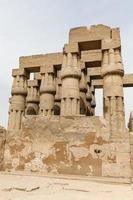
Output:
[[102,117],[27,117],[9,132],[6,171],[130,177],[129,138],[110,143]]

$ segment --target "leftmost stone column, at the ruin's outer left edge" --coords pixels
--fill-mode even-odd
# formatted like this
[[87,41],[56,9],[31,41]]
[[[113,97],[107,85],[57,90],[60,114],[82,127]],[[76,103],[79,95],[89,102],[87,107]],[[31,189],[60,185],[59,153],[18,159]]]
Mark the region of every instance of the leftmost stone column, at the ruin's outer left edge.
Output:
[[27,74],[24,69],[13,69],[12,76],[14,81],[10,98],[8,130],[19,130],[25,114]]

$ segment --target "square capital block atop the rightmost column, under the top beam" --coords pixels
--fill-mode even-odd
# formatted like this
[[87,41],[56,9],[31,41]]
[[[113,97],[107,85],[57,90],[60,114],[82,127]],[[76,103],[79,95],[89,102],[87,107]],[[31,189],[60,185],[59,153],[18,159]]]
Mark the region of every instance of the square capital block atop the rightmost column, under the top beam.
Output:
[[105,39],[102,40],[102,50],[105,49],[116,49],[121,47],[120,39]]

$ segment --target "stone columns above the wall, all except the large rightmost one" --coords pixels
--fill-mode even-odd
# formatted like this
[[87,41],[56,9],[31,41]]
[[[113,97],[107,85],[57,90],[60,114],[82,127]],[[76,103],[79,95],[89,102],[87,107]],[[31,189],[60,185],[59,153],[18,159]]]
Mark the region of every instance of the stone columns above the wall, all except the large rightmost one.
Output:
[[90,81],[86,80],[85,67],[81,70],[78,47],[71,48],[67,45],[65,48],[60,74],[61,80],[58,80],[56,86],[53,66],[41,67],[40,88],[37,80],[27,80],[28,73],[24,69],[13,70],[14,81],[12,97],[10,98],[9,129],[20,129],[22,117],[25,114],[35,115],[39,113],[43,116],[51,116],[55,101],[57,101],[57,105],[60,104],[61,115],[94,115],[95,90]]

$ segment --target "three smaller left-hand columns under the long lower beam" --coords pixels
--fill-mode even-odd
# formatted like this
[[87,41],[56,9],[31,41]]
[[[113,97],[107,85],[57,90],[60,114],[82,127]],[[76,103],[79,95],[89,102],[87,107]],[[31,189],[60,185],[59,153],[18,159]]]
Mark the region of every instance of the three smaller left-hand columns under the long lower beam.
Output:
[[[42,68],[43,69],[43,68]],[[26,114],[51,115],[53,112],[55,84],[53,71],[41,70],[42,81],[39,91],[37,80],[28,80],[24,69],[14,69],[12,97],[10,98],[8,129],[21,129],[22,117]],[[40,102],[40,104],[39,104]]]

